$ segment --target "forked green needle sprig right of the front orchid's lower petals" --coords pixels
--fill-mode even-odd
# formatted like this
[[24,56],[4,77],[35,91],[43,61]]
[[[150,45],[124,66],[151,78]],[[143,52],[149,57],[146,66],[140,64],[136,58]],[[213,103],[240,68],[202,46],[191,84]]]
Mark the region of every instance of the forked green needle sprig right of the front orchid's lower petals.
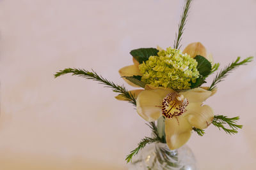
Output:
[[[243,125],[237,125],[239,117],[228,118],[223,115],[216,115],[212,120],[212,124],[218,129],[223,129],[227,134],[236,134],[237,129],[242,129]],[[224,125],[228,125],[230,129],[227,129]]]

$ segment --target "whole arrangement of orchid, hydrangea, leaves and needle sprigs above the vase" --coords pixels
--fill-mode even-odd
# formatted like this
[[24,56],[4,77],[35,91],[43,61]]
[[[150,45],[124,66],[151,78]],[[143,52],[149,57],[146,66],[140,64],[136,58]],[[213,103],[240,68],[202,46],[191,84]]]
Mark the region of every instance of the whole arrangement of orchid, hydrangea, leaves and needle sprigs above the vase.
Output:
[[159,46],[131,50],[134,64],[123,67],[119,73],[129,85],[140,89],[128,91],[124,85],[116,85],[95,71],[84,69],[67,68],[54,75],[58,77],[72,73],[99,81],[118,93],[116,99],[136,106],[138,115],[149,122],[154,135],[143,138],[138,148],[127,155],[127,162],[149,143],[167,143],[170,150],[180,148],[189,140],[191,132],[204,136],[204,129],[209,125],[214,125],[227,134],[236,134],[242,128],[242,125],[237,124],[239,117],[215,115],[204,101],[217,92],[216,85],[228,73],[251,62],[253,57],[244,60],[237,57],[216,74],[209,87],[204,87],[207,77],[218,70],[220,63],[214,63],[212,55],[207,54],[205,46],[199,42],[180,50],[190,5],[191,0],[186,0],[173,47],[166,50]]

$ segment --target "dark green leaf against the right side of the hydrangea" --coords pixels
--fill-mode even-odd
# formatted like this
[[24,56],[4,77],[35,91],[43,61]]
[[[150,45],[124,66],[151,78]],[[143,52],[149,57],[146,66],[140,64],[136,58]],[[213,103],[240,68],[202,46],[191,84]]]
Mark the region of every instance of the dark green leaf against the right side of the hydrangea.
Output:
[[209,62],[209,60],[205,59],[205,57],[201,55],[196,55],[195,59],[198,62],[196,68],[199,71],[200,75],[207,77],[211,73],[211,62]]

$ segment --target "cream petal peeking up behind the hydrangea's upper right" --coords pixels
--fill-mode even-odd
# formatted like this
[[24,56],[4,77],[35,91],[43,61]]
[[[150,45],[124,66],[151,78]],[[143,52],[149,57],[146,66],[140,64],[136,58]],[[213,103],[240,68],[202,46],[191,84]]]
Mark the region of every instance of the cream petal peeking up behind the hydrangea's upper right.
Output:
[[203,57],[206,57],[206,49],[200,42],[190,43],[183,50],[183,53],[188,53],[188,55],[190,55],[192,58],[196,57],[196,55],[202,55]]

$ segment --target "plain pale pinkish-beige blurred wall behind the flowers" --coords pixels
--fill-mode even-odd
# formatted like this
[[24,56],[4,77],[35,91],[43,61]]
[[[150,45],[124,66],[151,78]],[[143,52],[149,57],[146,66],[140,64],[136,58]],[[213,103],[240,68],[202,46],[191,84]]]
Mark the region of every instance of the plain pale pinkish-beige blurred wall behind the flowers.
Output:
[[[53,74],[93,68],[125,84],[118,69],[132,64],[131,50],[173,46],[182,4],[1,0],[0,169],[127,169],[125,156],[150,135],[145,120],[97,82]],[[183,47],[200,41],[221,68],[256,56],[255,8],[255,0],[194,0]],[[194,133],[188,145],[200,169],[255,168],[255,66],[239,67],[206,101],[244,127],[234,136],[213,125]]]

